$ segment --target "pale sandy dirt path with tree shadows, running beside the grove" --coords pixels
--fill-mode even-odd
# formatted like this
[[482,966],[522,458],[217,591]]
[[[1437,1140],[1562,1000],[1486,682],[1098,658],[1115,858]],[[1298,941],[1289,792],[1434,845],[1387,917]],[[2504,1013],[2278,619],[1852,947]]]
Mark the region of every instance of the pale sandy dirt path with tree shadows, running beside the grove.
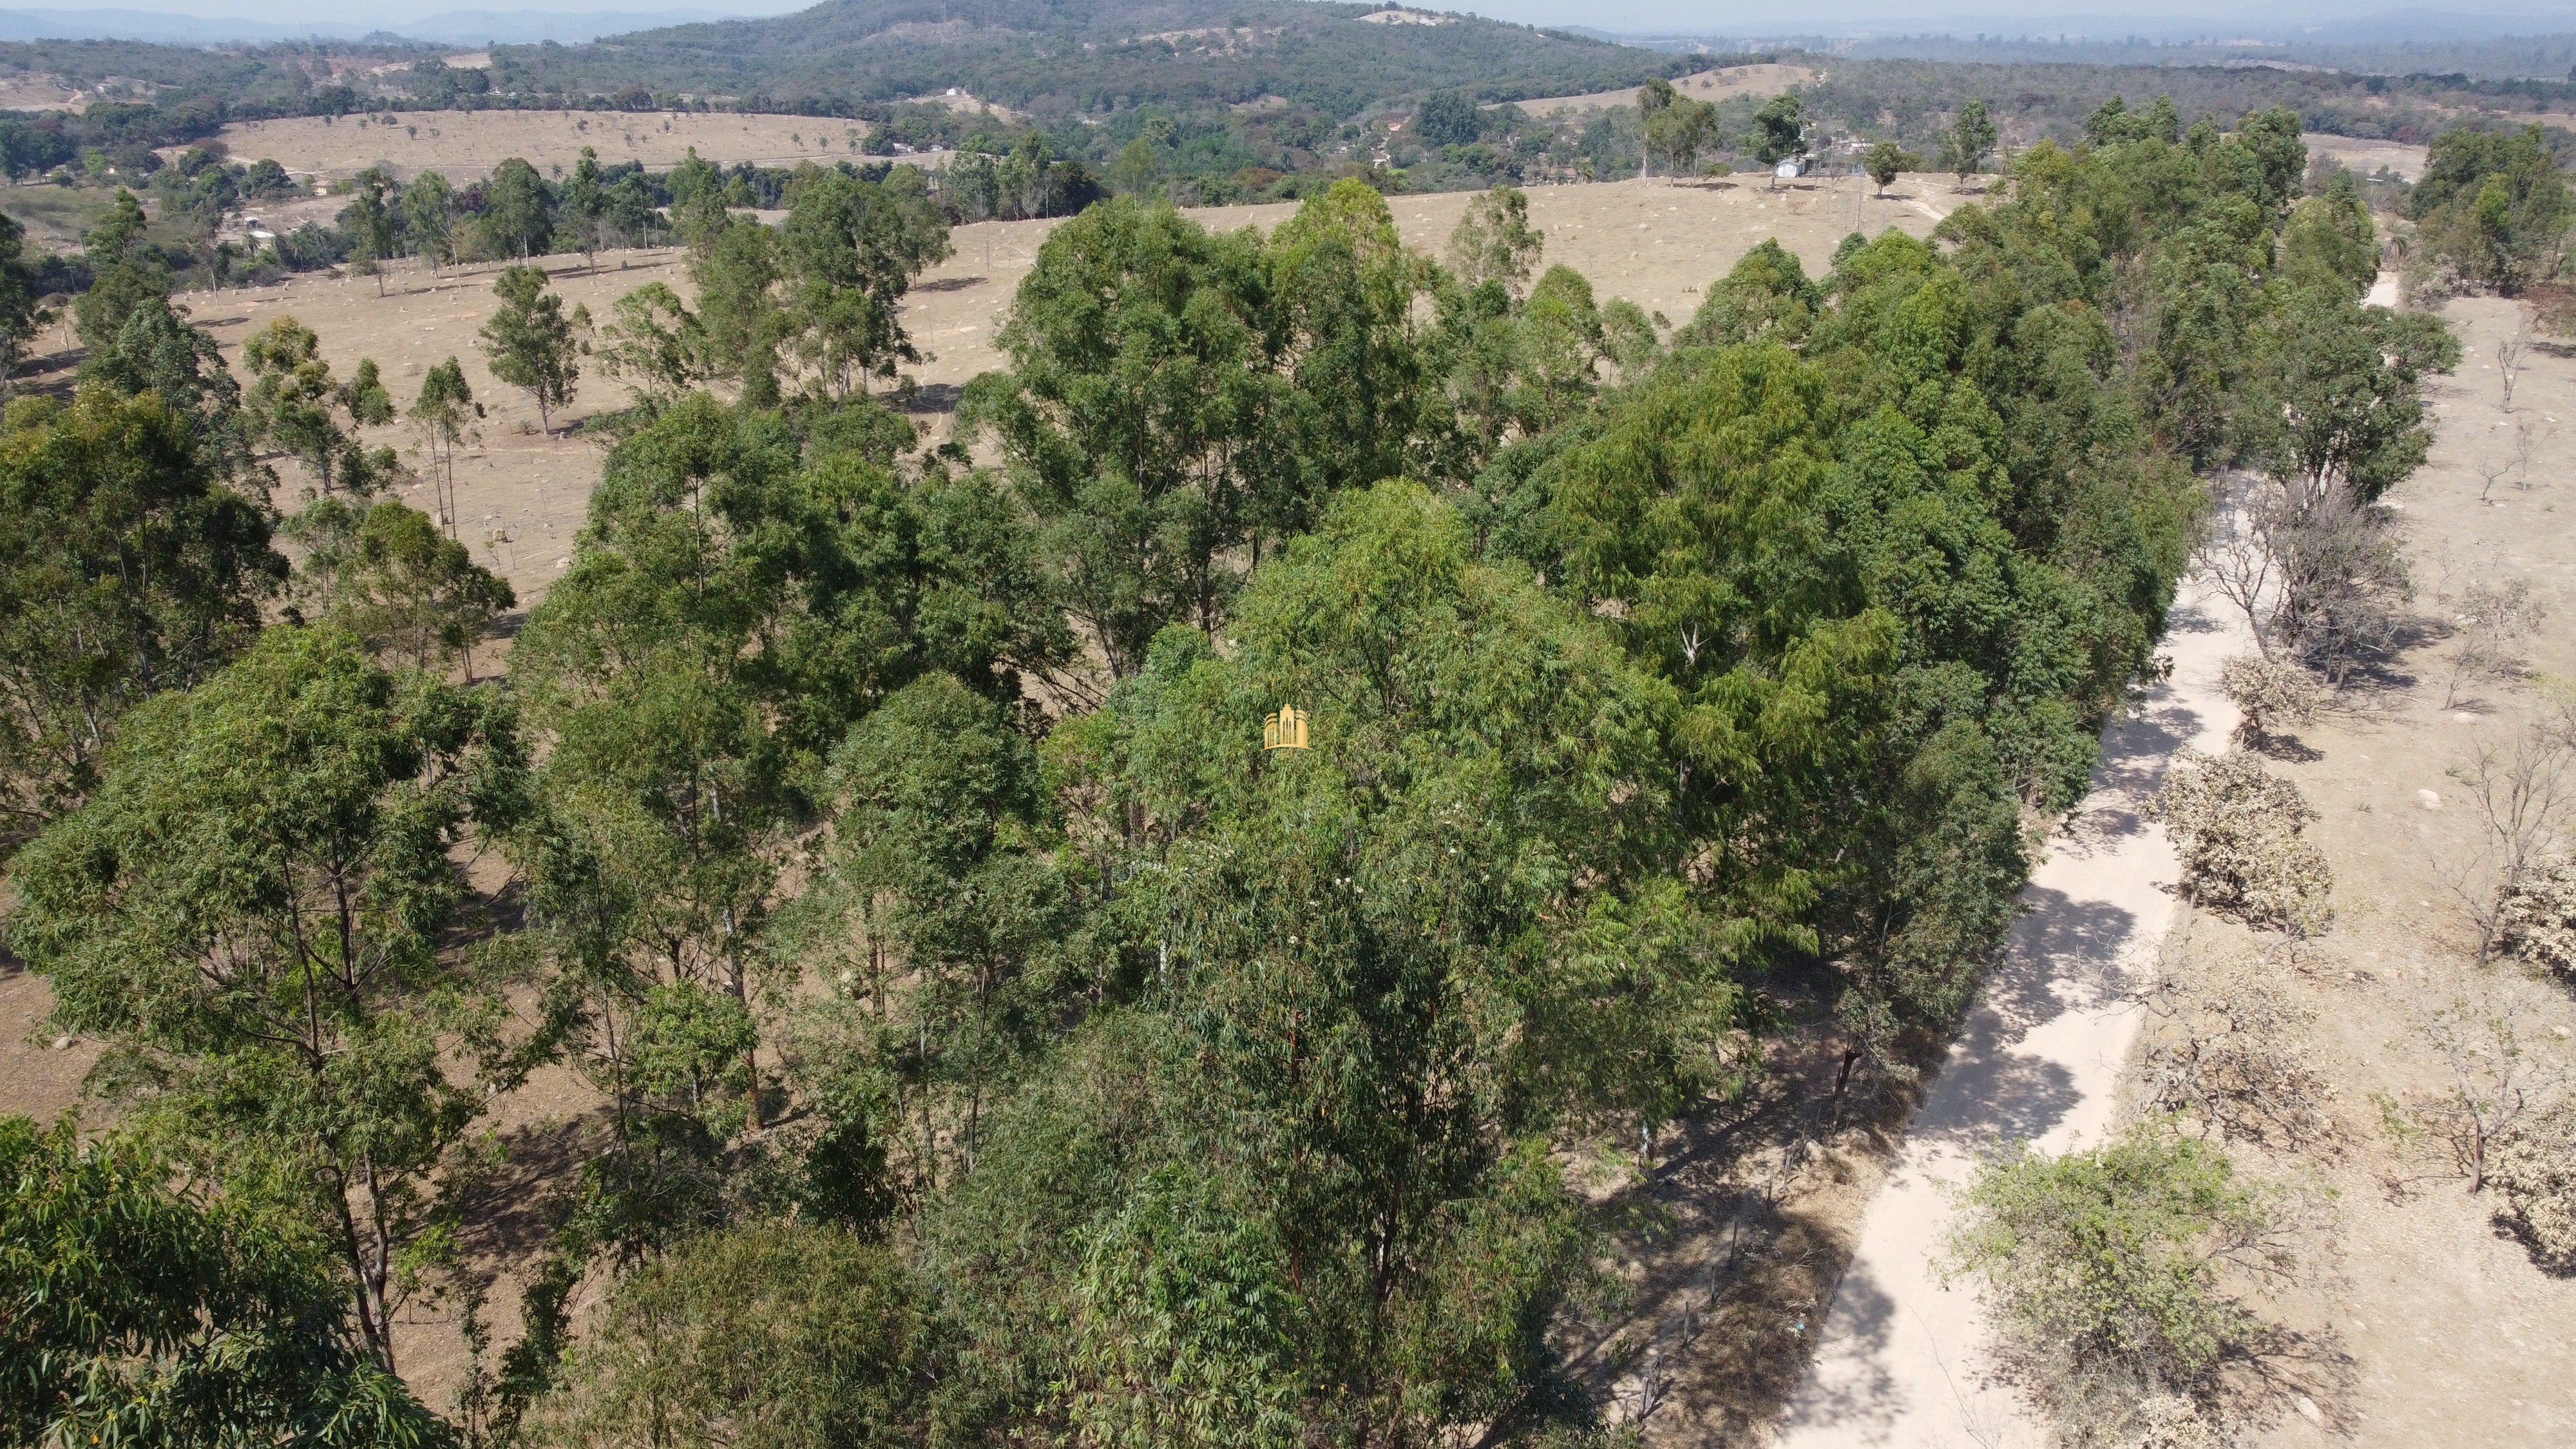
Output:
[[2249,651],[2251,636],[2187,579],[2164,643],[2172,679],[2102,734],[2092,795],[2050,836],[2022,891],[2012,950],[1870,1202],[1816,1359],[1790,1400],[1780,1436],[1788,1449],[2045,1444],[2040,1423],[1996,1382],[1973,1287],[1942,1287],[1932,1259],[1950,1230],[1950,1189],[1978,1153],[2014,1138],[2063,1153],[2099,1143],[2112,1125],[2138,1035],[2128,991],[2172,924],[2179,875],[2164,829],[2138,806],[2177,746],[2226,749],[2236,708],[2218,690],[2218,667]]

